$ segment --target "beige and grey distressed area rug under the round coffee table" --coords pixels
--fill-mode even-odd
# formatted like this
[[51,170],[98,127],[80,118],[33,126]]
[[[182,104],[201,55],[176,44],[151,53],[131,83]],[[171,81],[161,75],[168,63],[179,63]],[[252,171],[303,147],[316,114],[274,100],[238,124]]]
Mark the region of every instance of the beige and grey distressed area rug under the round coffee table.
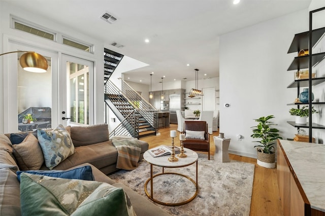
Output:
[[[161,167],[153,167],[154,174],[161,172]],[[182,168],[165,168],[165,172],[182,173],[195,181],[196,164]],[[135,170],[120,170],[108,176],[150,200],[144,192],[144,184],[150,177],[150,164],[145,160]],[[254,164],[238,161],[219,163],[213,160],[213,156],[209,161],[207,155],[199,154],[197,197],[181,206],[154,204],[171,215],[249,215],[253,177]],[[150,182],[147,189],[150,193]],[[182,202],[194,195],[195,187],[185,177],[166,174],[154,178],[153,192],[153,197],[159,201]]]

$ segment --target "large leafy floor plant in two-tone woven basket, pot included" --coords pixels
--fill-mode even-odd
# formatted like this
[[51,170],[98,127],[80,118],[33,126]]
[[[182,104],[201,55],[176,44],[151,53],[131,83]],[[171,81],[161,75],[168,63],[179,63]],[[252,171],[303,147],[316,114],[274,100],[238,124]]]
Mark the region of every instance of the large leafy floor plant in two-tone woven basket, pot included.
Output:
[[254,146],[257,147],[257,164],[266,168],[275,168],[275,140],[282,139],[279,136],[279,130],[271,127],[272,124],[269,120],[273,119],[274,116],[261,117],[259,119],[254,119],[258,122],[257,126],[253,126],[251,135],[252,138],[260,138],[259,142],[261,145]]

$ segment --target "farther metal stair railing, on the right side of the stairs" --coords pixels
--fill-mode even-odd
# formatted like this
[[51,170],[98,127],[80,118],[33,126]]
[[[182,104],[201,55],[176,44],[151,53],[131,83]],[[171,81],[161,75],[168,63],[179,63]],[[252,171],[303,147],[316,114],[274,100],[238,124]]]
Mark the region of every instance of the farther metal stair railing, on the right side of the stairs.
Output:
[[129,86],[124,80],[119,78],[122,82],[122,92],[125,97],[131,101],[135,109],[139,110],[142,116],[152,128],[157,132],[158,128],[158,110],[155,109],[148,101],[146,101],[137,91]]

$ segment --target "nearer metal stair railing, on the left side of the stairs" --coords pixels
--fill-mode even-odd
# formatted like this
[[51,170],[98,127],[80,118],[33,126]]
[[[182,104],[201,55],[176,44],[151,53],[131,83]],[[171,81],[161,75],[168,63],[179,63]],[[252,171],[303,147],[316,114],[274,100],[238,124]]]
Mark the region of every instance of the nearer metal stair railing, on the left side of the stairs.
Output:
[[[108,80],[105,85],[105,94],[116,107],[116,111],[118,113],[115,113],[115,115],[121,121],[121,123],[113,131],[111,131],[110,134],[132,135],[133,137],[138,138],[139,111],[135,109],[131,101],[129,101],[126,96],[123,95],[122,91],[119,90],[110,80]],[[130,105],[132,107],[130,107]]]

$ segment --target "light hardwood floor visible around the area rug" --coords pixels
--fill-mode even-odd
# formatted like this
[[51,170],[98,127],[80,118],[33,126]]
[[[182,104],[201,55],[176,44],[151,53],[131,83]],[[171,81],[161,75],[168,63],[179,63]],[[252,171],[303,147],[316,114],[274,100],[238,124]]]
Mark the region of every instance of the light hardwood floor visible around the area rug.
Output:
[[[170,130],[177,130],[176,124],[171,124],[167,128],[159,128],[160,135],[142,137],[149,143],[149,149],[160,145],[171,145]],[[218,136],[219,132],[213,132],[210,135],[210,157],[213,157],[215,145],[213,136]],[[174,140],[175,145],[179,145],[179,132],[177,131],[177,138]],[[206,153],[207,154],[207,153]],[[279,199],[279,190],[277,183],[276,169],[268,169],[256,164],[256,159],[243,157],[239,155],[229,154],[231,160],[237,160],[247,163],[255,164],[254,182],[252,201],[250,206],[251,216],[275,216],[283,215],[281,211],[281,202]]]

